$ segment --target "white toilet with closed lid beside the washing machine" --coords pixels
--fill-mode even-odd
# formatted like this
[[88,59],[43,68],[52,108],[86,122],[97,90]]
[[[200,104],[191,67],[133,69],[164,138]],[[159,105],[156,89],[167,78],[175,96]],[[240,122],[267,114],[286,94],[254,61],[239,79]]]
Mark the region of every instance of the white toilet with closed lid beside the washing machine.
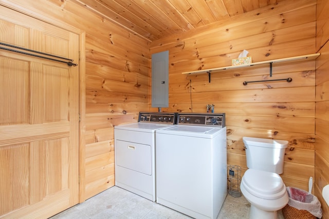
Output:
[[247,167],[240,189],[250,203],[250,219],[278,218],[278,210],[289,201],[286,187],[279,174],[287,141],[243,137]]

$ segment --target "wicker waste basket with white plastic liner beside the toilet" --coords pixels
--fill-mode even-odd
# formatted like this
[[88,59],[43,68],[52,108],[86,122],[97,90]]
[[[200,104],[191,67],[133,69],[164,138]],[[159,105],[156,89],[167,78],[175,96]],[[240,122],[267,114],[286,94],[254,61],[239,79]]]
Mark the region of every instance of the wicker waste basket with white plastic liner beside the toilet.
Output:
[[313,194],[287,187],[289,196],[288,204],[282,209],[285,219],[316,219],[322,217],[321,203]]

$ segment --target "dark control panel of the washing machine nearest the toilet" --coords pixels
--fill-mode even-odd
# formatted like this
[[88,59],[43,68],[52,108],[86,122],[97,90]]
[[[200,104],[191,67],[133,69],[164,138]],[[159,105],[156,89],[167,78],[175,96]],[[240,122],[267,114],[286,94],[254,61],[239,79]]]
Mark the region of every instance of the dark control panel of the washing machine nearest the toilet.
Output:
[[225,127],[225,113],[178,113],[179,125],[202,125]]

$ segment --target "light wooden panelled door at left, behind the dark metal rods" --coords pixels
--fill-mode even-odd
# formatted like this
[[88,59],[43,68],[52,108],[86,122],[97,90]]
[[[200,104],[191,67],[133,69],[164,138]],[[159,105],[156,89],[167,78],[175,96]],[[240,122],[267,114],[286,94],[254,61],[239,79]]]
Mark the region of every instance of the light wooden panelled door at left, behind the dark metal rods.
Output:
[[[0,33],[79,62],[77,34],[3,6]],[[47,218],[78,203],[78,88],[78,67],[0,49],[0,218]]]

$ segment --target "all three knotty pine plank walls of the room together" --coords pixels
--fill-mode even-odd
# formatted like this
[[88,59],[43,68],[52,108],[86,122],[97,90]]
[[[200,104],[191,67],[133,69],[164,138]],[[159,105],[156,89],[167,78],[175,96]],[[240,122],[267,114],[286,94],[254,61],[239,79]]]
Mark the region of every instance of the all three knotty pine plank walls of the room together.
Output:
[[[10,2],[21,4],[20,0]],[[329,167],[329,138],[324,131],[328,128],[327,1],[318,0],[316,7],[316,0],[300,0],[297,6],[287,0],[151,45],[75,0],[25,0],[24,4],[86,32],[83,199],[114,185],[113,126],[136,122],[139,111],[150,110],[150,47],[151,53],[170,51],[170,107],[163,111],[205,112],[207,104],[214,104],[215,112],[227,113],[228,164],[246,170],[242,136],[288,140],[282,174],[286,185],[307,189],[309,176],[315,175],[319,197],[329,182],[327,173],[321,171]],[[230,65],[243,49],[253,62],[316,51],[322,55],[317,60],[317,75],[314,61],[274,65],[273,78],[292,77],[291,83],[242,85],[243,81],[268,79],[265,67],[212,74],[211,83],[204,74],[181,74]],[[324,215],[328,216],[327,206]]]

